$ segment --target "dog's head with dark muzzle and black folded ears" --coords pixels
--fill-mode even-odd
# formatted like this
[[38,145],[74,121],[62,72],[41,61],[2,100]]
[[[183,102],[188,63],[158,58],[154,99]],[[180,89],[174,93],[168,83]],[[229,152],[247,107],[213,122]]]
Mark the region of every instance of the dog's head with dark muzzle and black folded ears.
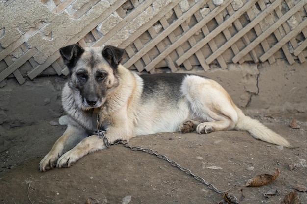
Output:
[[75,44],[61,48],[60,54],[70,71],[69,86],[77,91],[77,101],[85,109],[102,106],[118,86],[117,68],[124,50],[110,45],[102,49]]

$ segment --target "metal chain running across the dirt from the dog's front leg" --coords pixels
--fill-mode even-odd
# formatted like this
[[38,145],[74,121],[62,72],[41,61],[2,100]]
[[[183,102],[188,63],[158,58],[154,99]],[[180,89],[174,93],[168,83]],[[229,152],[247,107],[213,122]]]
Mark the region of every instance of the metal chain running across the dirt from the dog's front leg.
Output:
[[202,178],[199,175],[193,174],[191,172],[191,170],[184,168],[182,166],[180,166],[176,161],[173,161],[171,159],[168,159],[168,157],[166,157],[165,155],[162,154],[158,154],[156,153],[154,150],[152,149],[145,149],[142,147],[134,147],[134,146],[130,146],[128,143],[123,142],[123,140],[117,140],[113,143],[109,143],[109,145],[116,145],[116,144],[123,144],[124,147],[126,148],[130,148],[132,151],[142,151],[142,152],[146,152],[148,154],[151,155],[155,155],[157,156],[157,158],[159,159],[163,159],[166,160],[167,162],[169,162],[172,166],[179,168],[181,171],[183,171],[184,173],[186,173],[186,175],[191,175],[192,177],[194,177],[194,179],[200,181],[201,183],[205,184],[210,190],[213,190],[214,192],[218,193],[218,194],[223,194],[223,197],[225,199],[225,201],[227,201],[230,204],[239,204],[238,199],[233,195],[233,194],[228,194],[225,191],[220,191],[219,189],[217,189],[214,185],[208,183],[207,181],[205,181],[204,178]]

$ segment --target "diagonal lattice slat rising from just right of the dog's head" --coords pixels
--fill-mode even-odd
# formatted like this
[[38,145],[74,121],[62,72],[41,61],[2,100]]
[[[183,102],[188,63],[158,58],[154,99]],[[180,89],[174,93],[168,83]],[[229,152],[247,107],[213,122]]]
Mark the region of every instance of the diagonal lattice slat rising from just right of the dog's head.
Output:
[[[156,38],[154,38],[151,42],[149,42],[148,44],[146,44],[146,46],[144,46],[144,48],[142,50],[140,50],[138,53],[136,53],[133,57],[131,57],[125,64],[125,67],[130,67],[131,65],[133,65],[138,59],[140,59],[145,53],[147,53],[149,50],[151,50],[155,45],[157,45],[159,42],[161,42],[162,39],[166,38],[171,32],[173,32],[181,23],[185,22],[188,18],[190,18],[190,16],[193,15],[193,13],[195,13],[200,6],[204,5],[205,2],[203,1],[199,1],[197,2],[193,7],[191,7],[187,12],[185,12],[182,16],[179,17],[179,19],[177,19],[176,22],[172,23],[167,29],[163,30],[161,32],[161,34],[159,34]],[[194,32],[195,33],[195,32]],[[178,42],[178,41],[176,41]],[[182,44],[182,41],[181,41]],[[181,45],[180,44],[180,45]],[[174,44],[172,44],[174,45]],[[167,55],[169,55],[170,53],[168,53]],[[162,53],[159,55],[161,56]],[[162,59],[164,58],[164,55],[162,56]],[[158,56],[158,57],[159,57]],[[157,59],[158,57],[156,57],[155,59]],[[154,60],[155,60],[154,59]],[[160,59],[160,61],[162,60]],[[153,60],[153,61],[154,61]],[[153,63],[153,61],[151,63]],[[160,62],[158,61],[158,62]],[[156,61],[155,61],[156,62]],[[158,63],[157,62],[157,63]],[[151,66],[151,63],[149,65],[147,65],[148,67],[153,67]]]

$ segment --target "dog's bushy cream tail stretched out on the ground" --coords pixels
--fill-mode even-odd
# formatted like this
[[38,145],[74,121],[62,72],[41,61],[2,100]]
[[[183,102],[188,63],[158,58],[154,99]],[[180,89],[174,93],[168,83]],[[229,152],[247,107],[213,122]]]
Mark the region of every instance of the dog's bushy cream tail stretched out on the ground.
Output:
[[258,120],[244,115],[239,108],[236,107],[236,109],[238,113],[238,122],[234,129],[248,131],[256,139],[260,139],[265,142],[282,145],[284,147],[292,147],[285,138],[265,127]]

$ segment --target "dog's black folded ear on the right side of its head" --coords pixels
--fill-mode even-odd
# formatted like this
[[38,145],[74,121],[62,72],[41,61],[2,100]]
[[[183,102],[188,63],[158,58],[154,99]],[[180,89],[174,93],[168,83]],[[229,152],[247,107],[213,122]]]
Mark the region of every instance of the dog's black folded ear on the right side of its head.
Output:
[[111,45],[106,45],[102,50],[102,56],[106,59],[112,68],[117,68],[124,55],[125,50]]

